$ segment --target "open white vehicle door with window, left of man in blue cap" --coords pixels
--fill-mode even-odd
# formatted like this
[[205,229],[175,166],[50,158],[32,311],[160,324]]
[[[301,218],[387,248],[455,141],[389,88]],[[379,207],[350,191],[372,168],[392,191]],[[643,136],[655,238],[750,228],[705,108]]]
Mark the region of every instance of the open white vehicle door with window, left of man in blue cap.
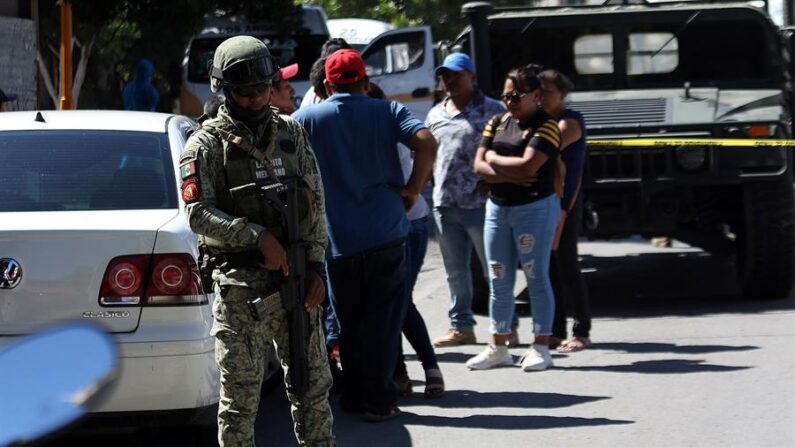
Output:
[[429,26],[387,31],[362,50],[370,80],[421,120],[433,105],[433,56]]

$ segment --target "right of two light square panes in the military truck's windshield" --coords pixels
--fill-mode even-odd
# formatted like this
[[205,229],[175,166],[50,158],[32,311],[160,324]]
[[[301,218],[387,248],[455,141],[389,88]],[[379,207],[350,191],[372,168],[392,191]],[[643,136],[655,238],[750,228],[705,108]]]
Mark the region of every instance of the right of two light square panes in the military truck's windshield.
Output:
[[631,33],[627,61],[630,75],[670,73],[679,65],[679,40],[671,33]]

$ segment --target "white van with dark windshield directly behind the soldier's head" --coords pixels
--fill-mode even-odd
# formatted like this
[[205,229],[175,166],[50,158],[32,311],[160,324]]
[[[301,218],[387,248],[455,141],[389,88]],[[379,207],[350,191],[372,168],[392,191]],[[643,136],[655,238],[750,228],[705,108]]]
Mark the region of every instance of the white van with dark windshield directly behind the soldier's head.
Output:
[[[326,12],[320,6],[303,6],[303,27],[307,32],[296,32],[279,37],[272,24],[248,23],[242,17],[211,17],[204,29],[194,36],[185,50],[182,61],[182,87],[179,113],[197,117],[204,103],[210,99],[209,63],[215,49],[229,37],[247,34],[262,39],[282,67],[298,63],[298,74],[290,79],[296,93],[303,95],[309,87],[309,69],[320,57],[320,47],[329,38]],[[301,103],[296,96],[296,106]]]

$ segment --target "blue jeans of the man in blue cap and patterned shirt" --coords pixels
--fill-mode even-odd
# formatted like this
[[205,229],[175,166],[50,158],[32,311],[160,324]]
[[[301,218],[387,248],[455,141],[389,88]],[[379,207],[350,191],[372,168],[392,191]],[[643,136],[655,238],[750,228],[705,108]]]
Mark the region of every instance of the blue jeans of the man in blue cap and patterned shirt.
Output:
[[447,285],[450,288],[448,315],[453,328],[472,332],[472,274],[469,268],[472,247],[480,257],[483,277],[487,275],[483,250],[484,209],[436,207],[433,210],[439,248],[442,252]]

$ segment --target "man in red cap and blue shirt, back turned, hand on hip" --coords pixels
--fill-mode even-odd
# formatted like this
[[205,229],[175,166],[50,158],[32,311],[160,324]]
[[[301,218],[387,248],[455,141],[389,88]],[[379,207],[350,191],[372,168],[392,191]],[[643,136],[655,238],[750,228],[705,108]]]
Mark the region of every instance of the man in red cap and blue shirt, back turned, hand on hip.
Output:
[[[309,134],[326,197],[326,253],[340,322],[341,405],[366,421],[399,414],[392,382],[408,307],[406,209],[422,191],[436,140],[406,107],[366,95],[364,61],[351,49],[326,59],[329,97],[294,115]],[[397,143],[414,151],[408,182]]]

